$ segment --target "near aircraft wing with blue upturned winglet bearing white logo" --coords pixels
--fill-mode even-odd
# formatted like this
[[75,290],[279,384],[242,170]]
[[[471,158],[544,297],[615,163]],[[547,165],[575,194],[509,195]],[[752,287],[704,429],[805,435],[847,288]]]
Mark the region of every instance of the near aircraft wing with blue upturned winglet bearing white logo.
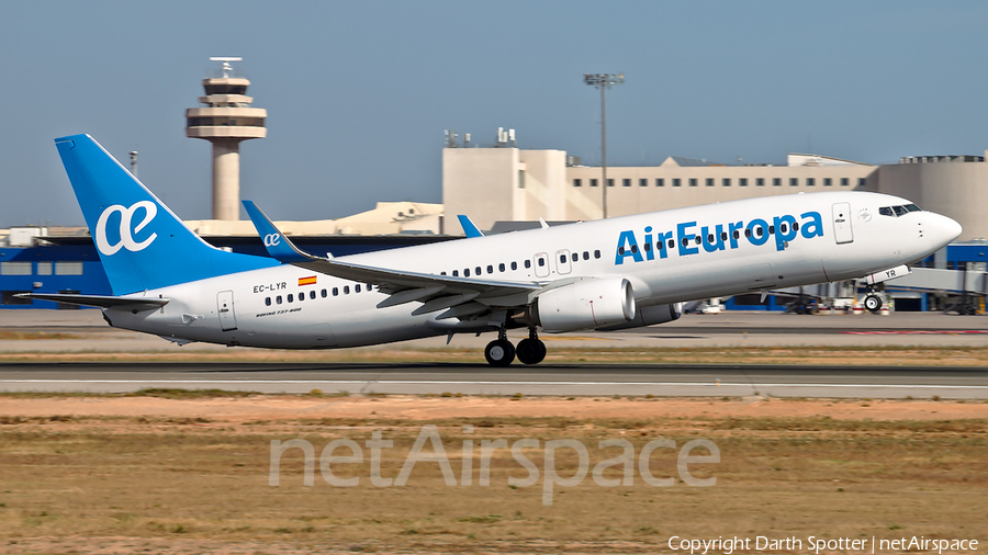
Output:
[[391,295],[378,305],[379,308],[413,301],[426,303],[415,312],[417,314],[451,308],[472,301],[485,307],[521,306],[530,303],[549,283],[436,275],[315,257],[295,247],[251,201],[244,201],[244,206],[271,258],[334,278],[377,285],[382,293]]

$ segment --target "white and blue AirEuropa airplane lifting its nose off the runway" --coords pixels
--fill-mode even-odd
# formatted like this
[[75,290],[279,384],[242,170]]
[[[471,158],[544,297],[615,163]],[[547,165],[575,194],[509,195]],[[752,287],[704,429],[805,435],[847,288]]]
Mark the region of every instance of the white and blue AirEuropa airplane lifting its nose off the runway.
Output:
[[[29,293],[102,308],[110,326],[183,344],[333,349],[495,332],[487,363],[547,354],[539,332],[680,317],[680,303],[857,279],[961,234],[887,194],[789,194],[345,257],[304,252],[251,202],[268,257],[192,233],[89,135],[55,139],[112,295]],[[475,226],[474,226],[475,227]],[[527,328],[517,346],[506,331]]]

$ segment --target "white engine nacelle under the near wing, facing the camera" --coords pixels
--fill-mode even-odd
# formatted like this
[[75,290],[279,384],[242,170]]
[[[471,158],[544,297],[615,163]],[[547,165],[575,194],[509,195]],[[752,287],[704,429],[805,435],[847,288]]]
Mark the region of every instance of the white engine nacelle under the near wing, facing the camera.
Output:
[[582,280],[547,291],[532,306],[532,316],[549,332],[624,324],[635,319],[635,294],[624,278]]

